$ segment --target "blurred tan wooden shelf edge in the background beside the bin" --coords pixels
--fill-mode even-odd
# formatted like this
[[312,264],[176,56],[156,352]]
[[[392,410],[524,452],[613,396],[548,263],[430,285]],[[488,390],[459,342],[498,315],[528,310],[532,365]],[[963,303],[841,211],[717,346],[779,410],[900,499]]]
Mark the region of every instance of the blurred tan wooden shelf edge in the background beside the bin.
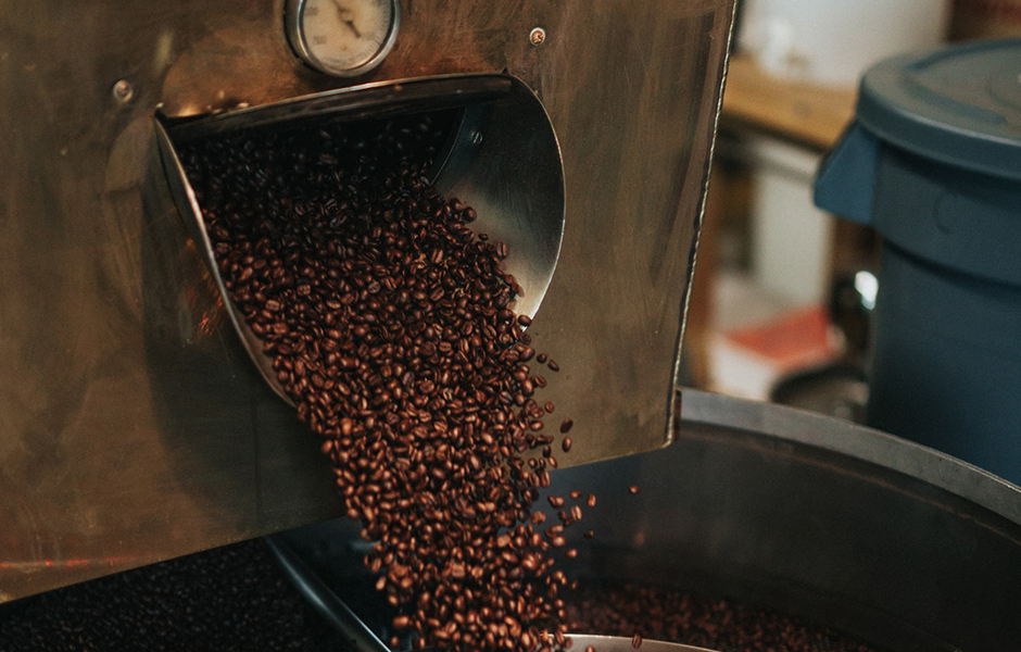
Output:
[[749,57],[730,59],[721,126],[768,131],[817,150],[836,145],[855,115],[855,88],[774,77]]

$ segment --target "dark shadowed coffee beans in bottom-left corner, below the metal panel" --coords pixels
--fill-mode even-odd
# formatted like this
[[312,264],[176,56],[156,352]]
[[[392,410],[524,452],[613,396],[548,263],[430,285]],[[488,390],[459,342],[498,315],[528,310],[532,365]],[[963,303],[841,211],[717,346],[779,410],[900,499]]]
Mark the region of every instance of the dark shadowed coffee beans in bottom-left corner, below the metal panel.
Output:
[[3,652],[342,652],[262,540],[0,605]]

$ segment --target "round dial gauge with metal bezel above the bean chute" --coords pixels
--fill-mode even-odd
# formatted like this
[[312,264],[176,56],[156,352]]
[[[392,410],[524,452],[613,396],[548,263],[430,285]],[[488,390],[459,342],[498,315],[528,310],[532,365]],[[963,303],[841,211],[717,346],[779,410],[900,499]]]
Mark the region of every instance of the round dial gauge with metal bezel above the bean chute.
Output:
[[287,0],[287,37],[301,59],[338,77],[363,75],[390,53],[401,0]]

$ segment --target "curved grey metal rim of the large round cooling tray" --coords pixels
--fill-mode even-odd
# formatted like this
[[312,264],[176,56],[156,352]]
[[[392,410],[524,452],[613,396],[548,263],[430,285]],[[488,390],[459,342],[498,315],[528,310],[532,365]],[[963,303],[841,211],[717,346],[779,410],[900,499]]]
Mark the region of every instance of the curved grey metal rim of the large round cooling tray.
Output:
[[1021,525],[1021,487],[900,437],[833,417],[695,389],[679,390],[684,424],[733,428],[841,453],[903,473]]

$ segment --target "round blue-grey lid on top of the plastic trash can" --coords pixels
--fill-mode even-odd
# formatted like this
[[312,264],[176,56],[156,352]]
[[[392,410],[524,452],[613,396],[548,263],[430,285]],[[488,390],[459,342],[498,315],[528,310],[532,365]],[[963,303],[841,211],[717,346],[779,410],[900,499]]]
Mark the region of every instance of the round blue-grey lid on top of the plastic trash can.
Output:
[[1021,39],[887,59],[865,74],[857,117],[921,156],[1021,180]]

